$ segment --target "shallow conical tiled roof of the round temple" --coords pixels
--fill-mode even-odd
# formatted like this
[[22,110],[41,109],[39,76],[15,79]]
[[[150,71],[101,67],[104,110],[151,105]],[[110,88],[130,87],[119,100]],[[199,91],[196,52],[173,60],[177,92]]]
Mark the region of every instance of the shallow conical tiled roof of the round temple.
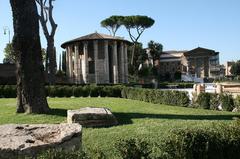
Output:
[[125,41],[127,43],[130,44],[130,42],[128,40],[125,40],[122,37],[118,37],[118,36],[111,36],[111,35],[107,35],[107,34],[102,34],[102,33],[92,33],[92,34],[88,34],[73,40],[69,40],[67,42],[64,42],[61,47],[65,48],[66,45],[74,43],[74,42],[80,42],[80,41],[91,41],[91,40],[117,40],[117,41]]

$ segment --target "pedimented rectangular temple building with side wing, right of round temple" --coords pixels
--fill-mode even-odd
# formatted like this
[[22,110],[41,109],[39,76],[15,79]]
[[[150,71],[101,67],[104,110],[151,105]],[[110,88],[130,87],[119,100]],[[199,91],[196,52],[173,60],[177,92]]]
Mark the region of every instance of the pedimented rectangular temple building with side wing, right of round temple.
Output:
[[202,82],[204,78],[220,75],[219,52],[200,47],[190,51],[164,51],[158,68],[159,74],[171,79],[180,73],[182,81]]

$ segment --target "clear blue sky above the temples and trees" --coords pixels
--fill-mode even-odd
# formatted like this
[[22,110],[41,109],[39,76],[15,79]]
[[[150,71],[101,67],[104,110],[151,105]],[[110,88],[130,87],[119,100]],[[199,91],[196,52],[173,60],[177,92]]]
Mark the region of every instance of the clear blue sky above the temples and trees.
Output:
[[[56,0],[54,17],[58,24],[55,36],[60,45],[73,38],[95,31],[108,34],[100,21],[111,15],[147,15],[155,19],[140,42],[162,43],[164,50],[190,50],[205,47],[220,52],[220,62],[240,59],[240,0]],[[13,35],[9,0],[0,0],[0,62],[8,36]],[[126,39],[125,28],[117,32]],[[41,33],[42,47],[46,40]]]

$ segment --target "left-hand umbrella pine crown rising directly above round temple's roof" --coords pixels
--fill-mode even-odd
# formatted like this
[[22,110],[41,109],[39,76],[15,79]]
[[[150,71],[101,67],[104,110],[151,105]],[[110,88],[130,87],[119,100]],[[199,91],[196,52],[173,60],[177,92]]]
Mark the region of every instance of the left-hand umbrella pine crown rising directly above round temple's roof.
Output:
[[116,32],[121,27],[123,19],[123,16],[113,15],[101,21],[101,26],[106,28],[112,36],[116,36]]

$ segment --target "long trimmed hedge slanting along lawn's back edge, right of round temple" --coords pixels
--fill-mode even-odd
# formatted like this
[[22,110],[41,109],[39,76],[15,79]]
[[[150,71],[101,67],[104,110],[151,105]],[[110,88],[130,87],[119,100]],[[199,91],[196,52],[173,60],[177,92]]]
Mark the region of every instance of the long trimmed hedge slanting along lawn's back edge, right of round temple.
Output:
[[171,90],[129,88],[122,89],[122,97],[155,104],[167,104],[187,107],[190,103],[188,93]]

